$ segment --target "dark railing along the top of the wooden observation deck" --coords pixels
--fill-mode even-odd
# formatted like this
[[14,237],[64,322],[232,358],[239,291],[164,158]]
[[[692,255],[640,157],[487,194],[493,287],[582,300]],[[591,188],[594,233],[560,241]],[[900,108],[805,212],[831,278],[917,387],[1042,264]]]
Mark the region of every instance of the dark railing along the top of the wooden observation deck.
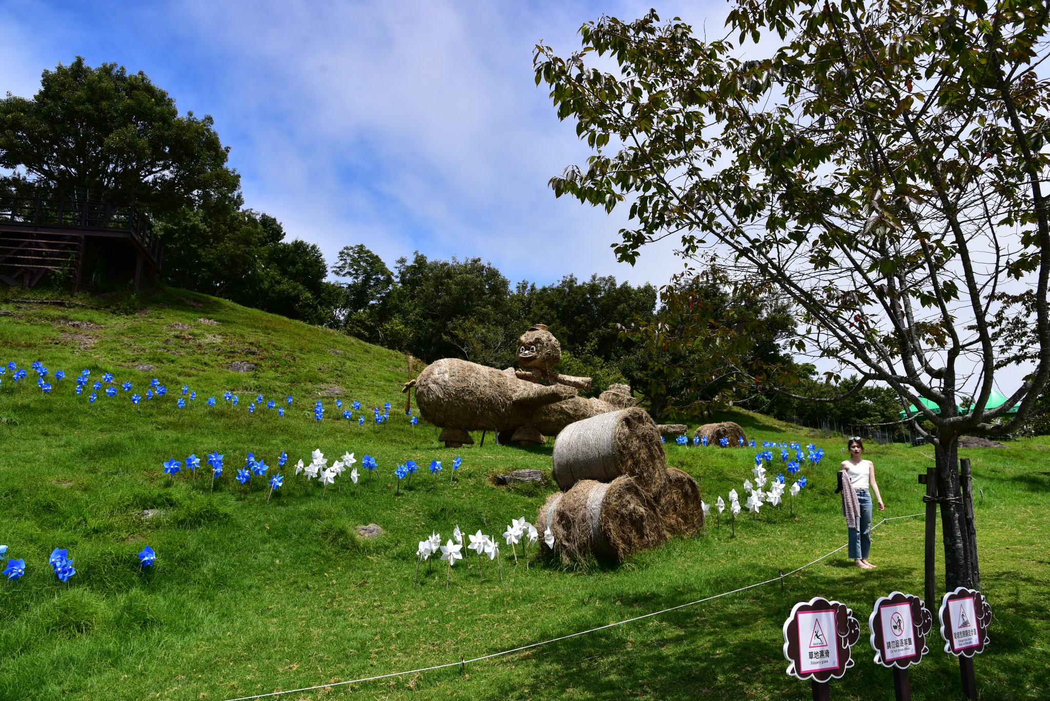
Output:
[[0,195],[0,226],[5,223],[84,231],[126,231],[139,242],[158,269],[164,255],[153,224],[134,205]]

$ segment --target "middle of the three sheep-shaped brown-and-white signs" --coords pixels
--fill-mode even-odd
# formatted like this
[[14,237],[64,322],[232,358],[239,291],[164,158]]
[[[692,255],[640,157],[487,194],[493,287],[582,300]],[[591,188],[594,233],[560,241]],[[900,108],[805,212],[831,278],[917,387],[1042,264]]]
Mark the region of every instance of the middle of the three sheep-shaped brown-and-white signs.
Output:
[[919,664],[929,652],[926,636],[933,627],[933,617],[919,597],[894,592],[876,600],[867,623],[875,663],[894,669],[897,701],[910,701],[908,667]]

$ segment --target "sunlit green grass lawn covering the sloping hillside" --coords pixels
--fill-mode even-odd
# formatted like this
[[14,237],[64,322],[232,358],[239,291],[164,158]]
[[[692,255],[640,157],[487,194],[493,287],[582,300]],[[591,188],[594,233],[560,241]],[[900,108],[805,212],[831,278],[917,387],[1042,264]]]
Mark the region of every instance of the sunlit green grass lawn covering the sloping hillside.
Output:
[[[26,560],[17,582],[0,585],[0,698],[227,699],[442,664],[604,625],[774,577],[845,540],[835,470],[844,457],[838,439],[736,412],[749,436],[812,440],[826,451],[796,500],[796,517],[763,509],[742,515],[736,538],[726,519],[707,532],[674,538],[618,568],[570,570],[532,560],[514,566],[503,545],[503,581],[486,561],[457,564],[452,586],[435,562],[413,584],[418,540],[433,530],[502,533],[511,518],[536,519],[555,489],[495,487],[492,474],[539,468],[549,475],[552,445],[447,450],[438,430],[412,428],[399,384],[403,355],[328,330],[188,292],[98,302],[89,308],[12,302],[0,297],[0,362],[41,360],[65,370],[51,394],[35,374],[0,385],[0,543]],[[4,313],[9,312],[9,313]],[[218,322],[204,324],[200,318]],[[178,326],[172,327],[173,324]],[[227,369],[232,360],[251,373]],[[151,371],[136,364],[155,366]],[[74,393],[83,368],[91,379],[112,372],[134,391],[152,377],[168,396],[133,407],[131,392],[89,405]],[[175,408],[183,384],[197,392]],[[231,408],[223,392],[240,405]],[[313,419],[318,392],[346,405],[360,400],[363,428],[340,420],[336,396],[322,397],[324,419]],[[250,397],[295,397],[285,417]],[[208,396],[218,406],[209,410]],[[371,408],[391,401],[388,424]],[[355,414],[356,417],[357,414]],[[480,435],[476,436],[480,438]],[[291,463],[319,448],[330,458],[368,453],[378,474],[358,492],[306,484],[286,474],[267,502],[262,480],[244,492],[233,480],[253,451],[271,465],[287,451]],[[210,490],[207,466],[170,483],[162,461],[226,455],[226,474]],[[463,467],[455,481],[455,455]],[[1011,442],[1005,450],[962,451],[973,461],[982,582],[994,618],[991,645],[976,663],[984,699],[1050,696],[1046,457],[1050,438]],[[668,446],[668,462],[695,476],[706,500],[742,493],[754,451]],[[880,516],[923,511],[916,474],[931,463],[924,448],[868,450],[886,501]],[[415,459],[422,472],[402,483],[393,470]],[[432,459],[445,470],[434,480]],[[358,463],[360,468],[360,463]],[[425,473],[425,474],[424,474]],[[158,510],[144,518],[141,513]],[[362,540],[355,528],[379,523],[385,534]],[[783,619],[792,605],[821,595],[853,606],[862,635],[856,666],[833,682],[836,699],[892,699],[892,677],[876,666],[867,616],[879,596],[923,592],[923,519],[887,522],[876,531],[862,572],[840,552],[779,584],[647,618],[563,642],[468,665],[281,698],[530,699],[530,698],[808,698],[806,684],[786,677]],[[940,531],[940,529],[938,529]],[[158,553],[140,573],[135,553]],[[47,564],[66,548],[77,575],[59,582]],[[940,554],[940,552],[939,552]],[[519,555],[521,552],[519,551]],[[939,574],[939,582],[943,576]],[[962,698],[958,664],[934,633],[929,656],[912,668],[916,699]]]

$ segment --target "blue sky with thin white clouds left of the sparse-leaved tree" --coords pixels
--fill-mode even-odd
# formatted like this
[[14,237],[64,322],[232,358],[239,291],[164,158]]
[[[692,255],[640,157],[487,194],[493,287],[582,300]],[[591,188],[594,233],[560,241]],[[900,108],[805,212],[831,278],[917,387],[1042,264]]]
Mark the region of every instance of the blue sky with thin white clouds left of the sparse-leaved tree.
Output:
[[[481,256],[516,282],[574,273],[660,284],[670,245],[635,267],[609,245],[620,213],[555,200],[547,180],[588,150],[532,78],[540,40],[560,54],[605,13],[648,2],[0,2],[0,90],[41,70],[144,70],[181,110],[211,115],[247,206],[329,260],[363,243],[388,265],[420,250]],[[722,2],[670,2],[720,33]]]

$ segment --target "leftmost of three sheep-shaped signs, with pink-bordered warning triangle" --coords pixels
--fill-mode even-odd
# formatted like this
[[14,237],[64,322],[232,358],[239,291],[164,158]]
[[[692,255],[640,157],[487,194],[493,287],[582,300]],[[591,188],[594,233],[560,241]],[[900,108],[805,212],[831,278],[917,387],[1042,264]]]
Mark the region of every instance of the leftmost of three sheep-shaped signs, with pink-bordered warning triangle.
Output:
[[808,680],[814,701],[831,698],[830,679],[841,679],[854,665],[850,648],[860,640],[860,623],[844,603],[814,597],[800,601],[784,621],[788,674]]

